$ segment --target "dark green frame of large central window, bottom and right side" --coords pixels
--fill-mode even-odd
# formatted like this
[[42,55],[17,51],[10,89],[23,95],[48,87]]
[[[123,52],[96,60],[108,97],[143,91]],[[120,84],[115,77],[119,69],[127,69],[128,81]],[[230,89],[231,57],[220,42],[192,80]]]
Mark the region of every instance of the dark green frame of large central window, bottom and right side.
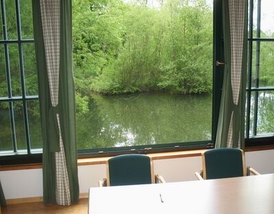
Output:
[[209,141],[193,141],[178,143],[163,143],[158,145],[138,145],[131,147],[108,147],[90,150],[78,150],[79,158],[114,156],[118,154],[151,154],[160,152],[175,152],[182,150],[202,150],[214,147],[216,130],[219,119],[219,108],[221,103],[221,91],[223,87],[224,67],[217,67],[216,60],[223,61],[223,22],[221,0],[213,0],[213,77],[212,77],[212,139]]

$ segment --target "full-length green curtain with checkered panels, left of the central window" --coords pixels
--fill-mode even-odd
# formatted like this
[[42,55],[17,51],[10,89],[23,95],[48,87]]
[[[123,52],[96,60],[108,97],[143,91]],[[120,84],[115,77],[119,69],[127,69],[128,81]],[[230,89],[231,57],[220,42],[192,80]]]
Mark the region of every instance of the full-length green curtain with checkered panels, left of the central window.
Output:
[[33,0],[44,203],[79,200],[71,0]]

